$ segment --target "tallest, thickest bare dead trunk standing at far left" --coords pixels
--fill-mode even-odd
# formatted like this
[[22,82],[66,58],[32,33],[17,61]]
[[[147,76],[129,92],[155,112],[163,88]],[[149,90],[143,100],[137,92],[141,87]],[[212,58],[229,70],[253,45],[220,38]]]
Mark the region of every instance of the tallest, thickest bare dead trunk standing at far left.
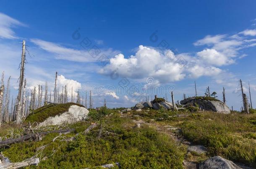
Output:
[[25,59],[26,59],[26,42],[23,40],[22,43],[22,55],[21,55],[21,73],[20,73],[20,82],[19,82],[19,90],[18,90],[18,107],[17,107],[17,113],[16,113],[16,124],[21,124],[21,108],[22,108],[22,103],[21,103],[21,95],[23,92],[23,84],[24,84],[24,64],[25,64]]

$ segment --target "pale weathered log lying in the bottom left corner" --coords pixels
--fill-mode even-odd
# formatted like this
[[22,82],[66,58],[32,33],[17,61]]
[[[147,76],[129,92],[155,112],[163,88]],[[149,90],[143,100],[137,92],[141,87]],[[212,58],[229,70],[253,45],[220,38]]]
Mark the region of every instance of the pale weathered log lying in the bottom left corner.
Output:
[[16,162],[16,163],[3,162],[0,164],[0,169],[18,169],[24,166],[37,165],[39,164],[39,162],[40,162],[39,158],[26,159],[24,161]]

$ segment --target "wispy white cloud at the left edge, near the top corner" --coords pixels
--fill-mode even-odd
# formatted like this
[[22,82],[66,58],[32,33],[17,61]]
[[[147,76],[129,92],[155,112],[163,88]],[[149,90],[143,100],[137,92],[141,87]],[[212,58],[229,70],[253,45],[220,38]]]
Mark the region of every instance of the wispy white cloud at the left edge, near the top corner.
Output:
[[20,21],[11,18],[8,15],[0,13],[0,38],[3,39],[17,39],[14,31],[11,28],[15,26],[26,26]]

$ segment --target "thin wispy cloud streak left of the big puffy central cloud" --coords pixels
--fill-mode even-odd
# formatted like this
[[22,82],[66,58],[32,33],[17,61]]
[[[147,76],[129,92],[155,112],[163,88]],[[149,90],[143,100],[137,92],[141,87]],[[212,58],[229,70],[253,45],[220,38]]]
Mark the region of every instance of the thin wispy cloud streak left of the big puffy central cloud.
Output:
[[31,39],[31,42],[39,46],[39,48],[53,53],[56,59],[63,59],[68,61],[76,61],[76,62],[97,62],[99,57],[103,54],[107,57],[110,55],[115,55],[119,51],[112,50],[111,48],[108,49],[99,49],[100,53],[96,56],[94,53],[96,50],[77,50],[73,48],[65,48],[64,46],[47,42],[40,39]]

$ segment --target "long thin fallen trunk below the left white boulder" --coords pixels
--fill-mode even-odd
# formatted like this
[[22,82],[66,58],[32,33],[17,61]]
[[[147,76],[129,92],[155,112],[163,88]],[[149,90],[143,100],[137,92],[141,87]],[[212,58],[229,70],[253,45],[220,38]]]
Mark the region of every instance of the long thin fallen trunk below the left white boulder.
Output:
[[4,140],[4,141],[1,141],[0,142],[0,147],[2,146],[7,146],[9,144],[13,144],[13,143],[16,143],[16,142],[21,142],[21,141],[26,141],[26,140],[29,140],[29,139],[37,139],[39,138],[40,136],[44,136],[44,135],[47,135],[47,134],[51,134],[51,133],[65,133],[67,134],[67,132],[71,132],[71,131],[74,131],[75,129],[62,129],[62,130],[52,130],[52,131],[44,131],[44,132],[40,132],[40,133],[33,133],[33,134],[27,134],[25,136],[21,136],[19,138],[15,138],[15,139],[8,139],[8,140]]

